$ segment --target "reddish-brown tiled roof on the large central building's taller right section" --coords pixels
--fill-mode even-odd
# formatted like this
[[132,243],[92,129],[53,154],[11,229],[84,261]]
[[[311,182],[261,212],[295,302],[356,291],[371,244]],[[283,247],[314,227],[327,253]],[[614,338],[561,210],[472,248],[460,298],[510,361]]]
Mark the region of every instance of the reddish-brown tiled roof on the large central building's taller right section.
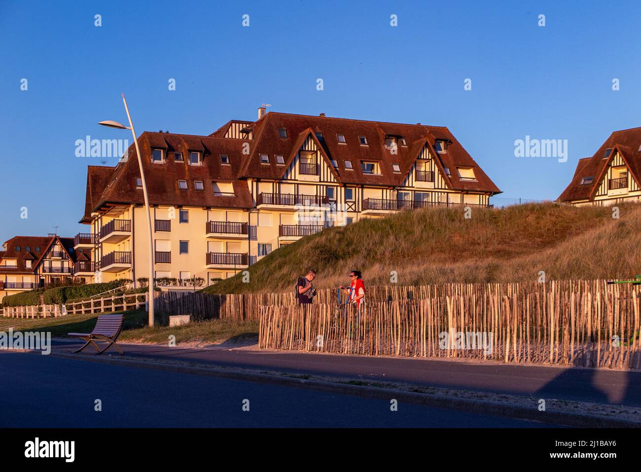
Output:
[[[294,115],[269,112],[262,119],[254,122],[254,140],[251,142],[251,152],[246,156],[240,168],[239,178],[263,178],[277,180],[282,178],[285,169],[277,165],[274,156],[291,157],[299,151],[301,137],[312,133],[317,142],[321,155],[328,160],[337,161],[335,174],[340,183],[360,185],[399,186],[403,184],[412,165],[420,155],[425,145],[430,146],[431,154],[437,156],[442,164],[439,168],[449,167],[451,177],[447,178],[455,190],[500,193],[481,167],[465,151],[463,146],[445,127],[425,126],[420,124],[401,124],[377,121],[362,121],[324,116]],[[278,130],[287,130],[287,138],[279,137]],[[322,137],[317,136],[320,133]],[[337,135],[345,136],[345,144],[340,144]],[[403,137],[407,146],[397,146],[397,153],[392,155],[385,146],[386,137]],[[360,137],[367,139],[367,146],[360,143]],[[433,146],[437,140],[447,140],[446,153],[436,153]],[[260,155],[270,156],[270,163],[262,164]],[[352,162],[353,170],[345,169],[345,161]],[[378,162],[381,175],[364,174],[361,160]],[[401,173],[394,173],[392,164],[399,164]],[[455,172],[457,166],[473,167],[477,181],[462,181]]]

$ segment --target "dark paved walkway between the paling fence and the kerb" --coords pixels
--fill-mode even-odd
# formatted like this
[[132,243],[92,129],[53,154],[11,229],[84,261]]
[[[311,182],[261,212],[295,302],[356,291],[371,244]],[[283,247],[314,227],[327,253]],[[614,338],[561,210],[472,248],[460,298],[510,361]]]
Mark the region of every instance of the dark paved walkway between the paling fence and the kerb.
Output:
[[[79,347],[75,341],[54,340],[54,352]],[[429,387],[494,392],[557,400],[641,406],[641,373],[583,368],[482,364],[425,358],[366,357],[315,353],[259,351],[249,348],[181,348],[119,343],[128,357],[158,358],[209,366],[378,380]],[[78,356],[93,356],[91,348]],[[117,356],[115,349],[108,353]],[[108,353],[103,354],[106,355]]]

